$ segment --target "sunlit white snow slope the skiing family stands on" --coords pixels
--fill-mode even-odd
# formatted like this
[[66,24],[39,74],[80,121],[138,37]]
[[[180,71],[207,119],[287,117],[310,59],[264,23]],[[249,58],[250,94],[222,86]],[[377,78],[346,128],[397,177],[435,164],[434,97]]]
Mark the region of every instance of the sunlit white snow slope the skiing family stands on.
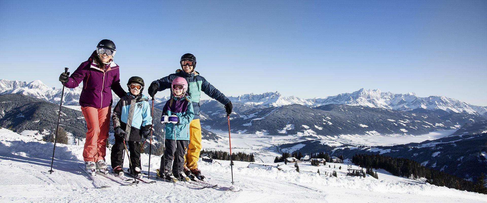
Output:
[[[234,143],[232,143],[232,146]],[[167,202],[167,203],[485,203],[487,195],[459,191],[392,176],[378,170],[379,180],[367,176],[345,176],[346,164],[327,163],[311,166],[299,163],[234,162],[234,190],[229,161],[199,162],[199,168],[215,188],[198,189],[193,184],[158,181],[123,186],[104,179],[107,188],[96,188],[78,164],[83,146],[56,144],[54,172],[51,166],[53,143],[32,136],[0,129],[0,202],[87,203],[87,202]],[[236,150],[238,151],[238,150]],[[244,151],[245,152],[245,151]],[[107,159],[110,159],[107,149]],[[142,154],[142,170],[147,172],[147,154]],[[257,158],[256,158],[257,159]],[[265,159],[267,160],[267,159]],[[129,164],[125,159],[124,168]],[[107,160],[110,164],[110,161]],[[159,167],[160,157],[151,157],[151,174]],[[341,169],[339,167],[341,166]],[[111,167],[110,167],[111,168]],[[358,169],[358,166],[353,166]],[[320,174],[316,173],[320,170]],[[333,170],[337,177],[330,177]],[[328,175],[324,175],[325,172]],[[152,175],[153,176],[153,175]],[[98,176],[103,178],[102,176]],[[147,176],[144,176],[147,177]],[[156,180],[156,179],[154,179]]]

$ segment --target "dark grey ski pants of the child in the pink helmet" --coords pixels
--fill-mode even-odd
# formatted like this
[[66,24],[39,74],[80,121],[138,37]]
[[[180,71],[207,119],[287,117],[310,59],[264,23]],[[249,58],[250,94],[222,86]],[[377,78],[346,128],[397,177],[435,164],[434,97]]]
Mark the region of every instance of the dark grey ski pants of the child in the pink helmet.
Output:
[[[183,171],[184,156],[186,155],[187,146],[189,141],[187,140],[169,140],[164,141],[164,156],[161,157],[160,171],[169,170],[172,173],[179,174]],[[176,146],[177,145],[177,146]],[[164,163],[164,165],[162,165]]]

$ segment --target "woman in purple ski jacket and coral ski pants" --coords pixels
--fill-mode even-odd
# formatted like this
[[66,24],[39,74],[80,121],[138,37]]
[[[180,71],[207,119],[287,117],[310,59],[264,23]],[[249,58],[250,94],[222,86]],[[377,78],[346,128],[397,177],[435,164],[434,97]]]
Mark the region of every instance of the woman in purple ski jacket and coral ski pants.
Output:
[[105,173],[108,173],[105,153],[110,127],[112,90],[118,97],[123,97],[126,93],[120,86],[118,65],[113,62],[115,51],[112,40],[103,39],[90,58],[81,63],[71,76],[69,73],[59,76],[59,81],[67,88],[78,87],[83,81],[79,105],[88,128],[83,149],[85,169],[100,169]]

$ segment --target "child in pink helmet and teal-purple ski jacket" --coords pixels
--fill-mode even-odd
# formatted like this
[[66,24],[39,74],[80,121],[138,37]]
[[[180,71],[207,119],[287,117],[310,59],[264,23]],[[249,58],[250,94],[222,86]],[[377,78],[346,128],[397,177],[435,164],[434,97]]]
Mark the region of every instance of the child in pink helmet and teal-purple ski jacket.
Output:
[[159,176],[172,182],[177,179],[189,181],[183,171],[183,166],[189,144],[189,123],[194,118],[194,111],[191,97],[186,90],[186,79],[174,78],[171,83],[172,97],[166,102],[161,116],[161,123],[166,123],[164,127],[166,139]]

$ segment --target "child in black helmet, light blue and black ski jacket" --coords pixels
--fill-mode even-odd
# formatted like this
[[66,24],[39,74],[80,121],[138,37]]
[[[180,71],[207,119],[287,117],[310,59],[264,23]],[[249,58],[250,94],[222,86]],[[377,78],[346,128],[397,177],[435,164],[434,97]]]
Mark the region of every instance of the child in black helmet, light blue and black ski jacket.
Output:
[[[115,176],[123,176],[123,150],[128,143],[130,151],[130,171],[137,178],[140,173],[140,141],[147,139],[152,129],[149,98],[142,94],[144,80],[133,76],[127,83],[129,91],[120,98],[113,109],[113,130],[115,144],[112,147],[112,168]],[[125,142],[127,141],[127,142]]]

